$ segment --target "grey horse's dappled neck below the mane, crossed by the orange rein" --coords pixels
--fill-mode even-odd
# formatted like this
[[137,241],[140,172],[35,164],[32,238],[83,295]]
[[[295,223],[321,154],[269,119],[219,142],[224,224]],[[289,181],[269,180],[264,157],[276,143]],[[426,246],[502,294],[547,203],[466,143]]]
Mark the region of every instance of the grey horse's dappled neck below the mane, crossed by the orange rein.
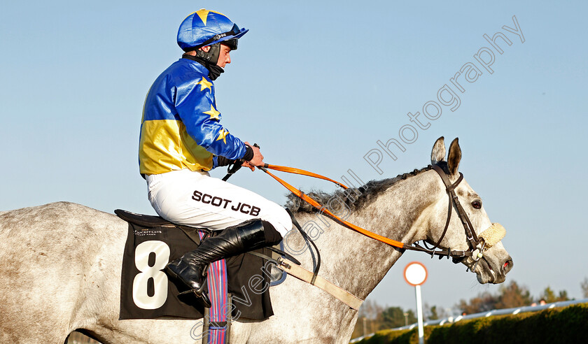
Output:
[[[426,208],[438,199],[439,192],[434,174],[434,171],[423,172],[396,182],[373,203],[351,213],[346,221],[402,243],[425,238],[426,228],[421,220]],[[319,274],[362,299],[402,255],[400,250],[330,220],[325,228],[322,221],[326,217],[316,215],[306,219],[324,229],[316,240],[323,266]]]

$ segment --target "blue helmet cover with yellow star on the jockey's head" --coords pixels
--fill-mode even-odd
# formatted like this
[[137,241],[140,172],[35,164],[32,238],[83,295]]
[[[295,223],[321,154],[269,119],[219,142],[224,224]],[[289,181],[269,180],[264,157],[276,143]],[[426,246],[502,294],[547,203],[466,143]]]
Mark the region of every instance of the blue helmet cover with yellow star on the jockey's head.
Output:
[[249,31],[239,29],[223,13],[214,10],[197,10],[183,20],[178,29],[178,45],[184,51],[197,50],[206,45],[221,43],[237,49],[237,39]]

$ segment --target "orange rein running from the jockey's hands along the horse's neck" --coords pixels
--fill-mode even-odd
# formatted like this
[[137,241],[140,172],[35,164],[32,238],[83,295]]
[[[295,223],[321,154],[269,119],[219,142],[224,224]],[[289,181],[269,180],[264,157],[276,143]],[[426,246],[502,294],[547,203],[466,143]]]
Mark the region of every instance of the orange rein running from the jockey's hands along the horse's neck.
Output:
[[296,189],[292,185],[290,185],[287,182],[285,182],[285,181],[281,180],[280,178],[276,177],[276,175],[270,173],[269,171],[267,171],[267,169],[272,169],[272,170],[282,171],[282,172],[287,172],[287,173],[295,173],[295,174],[300,174],[300,175],[308,175],[309,177],[314,177],[314,178],[318,178],[318,179],[323,179],[323,180],[328,180],[330,182],[334,182],[335,184],[339,185],[340,187],[343,187],[344,189],[349,189],[349,187],[346,187],[342,183],[337,182],[335,180],[332,180],[330,178],[327,178],[327,177],[325,177],[323,175],[319,175],[319,174],[312,173],[312,172],[309,172],[309,171],[304,171],[304,170],[301,170],[301,169],[294,169],[293,167],[276,166],[276,165],[265,164],[263,167],[262,166],[258,166],[258,169],[260,169],[261,171],[264,171],[265,173],[271,175],[272,178],[274,178],[281,185],[283,185],[284,187],[286,187],[286,189],[290,190],[290,192],[292,192],[296,196],[300,197],[300,199],[302,199],[303,201],[306,201],[311,206],[314,206],[315,208],[319,209],[322,213],[326,213],[327,215],[330,215],[337,222],[339,222],[339,224],[342,224],[342,225],[344,225],[344,226],[346,226],[346,227],[348,227],[350,229],[353,229],[354,231],[358,231],[359,233],[361,233],[361,234],[363,234],[365,236],[368,236],[368,237],[370,237],[372,239],[375,239],[377,241],[381,241],[382,243],[386,243],[386,244],[391,245],[391,246],[394,246],[396,248],[404,248],[404,245],[405,244],[404,243],[400,243],[400,241],[395,241],[395,240],[392,240],[391,238],[386,238],[385,236],[381,236],[379,234],[372,233],[371,231],[368,231],[367,229],[363,229],[361,227],[356,226],[355,224],[351,224],[349,222],[346,222],[345,220],[340,219],[337,215],[331,213],[330,210],[328,210],[327,208],[324,208],[323,206],[321,206],[320,203],[318,203],[317,201],[315,201],[311,197],[307,196],[307,194],[304,194],[299,189]]

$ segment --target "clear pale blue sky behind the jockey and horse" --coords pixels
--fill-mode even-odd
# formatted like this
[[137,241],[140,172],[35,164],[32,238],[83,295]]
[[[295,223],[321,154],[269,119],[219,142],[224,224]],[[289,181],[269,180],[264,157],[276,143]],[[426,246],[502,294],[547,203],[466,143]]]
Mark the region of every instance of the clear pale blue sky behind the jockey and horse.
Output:
[[[584,1],[512,2],[7,2],[0,13],[0,210],[73,201],[153,213],[137,166],[144,96],[181,55],[181,20],[209,8],[250,29],[216,82],[217,101],[225,127],[260,143],[266,162],[332,178],[352,169],[367,181],[426,166],[437,137],[458,136],[461,171],[491,220],[507,229],[509,280],[533,296],[549,285],[580,298],[588,276],[588,8]],[[514,28],[513,15],[524,43],[502,29]],[[499,40],[504,53],[495,52],[489,73],[473,55],[491,48],[484,34],[498,31],[512,45]],[[463,82],[460,106],[442,106],[398,160],[384,157],[379,175],[364,155],[377,140],[398,138],[412,124],[407,113],[422,113],[440,87],[454,87],[449,79],[468,62],[482,75]],[[232,181],[285,201],[285,189],[262,173]],[[465,267],[407,254],[370,299],[414,308],[413,288],[402,279],[412,260],[430,271],[423,285],[430,305],[450,308],[498,290],[477,285]]]

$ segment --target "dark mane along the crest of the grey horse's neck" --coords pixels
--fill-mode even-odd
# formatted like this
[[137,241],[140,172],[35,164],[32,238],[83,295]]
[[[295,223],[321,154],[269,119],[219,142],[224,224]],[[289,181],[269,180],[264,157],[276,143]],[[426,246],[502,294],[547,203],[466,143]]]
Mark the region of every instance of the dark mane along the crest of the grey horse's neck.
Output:
[[[447,169],[445,166],[442,167]],[[401,175],[399,174],[395,176],[395,178],[370,180],[367,182],[367,184],[361,187],[350,187],[349,189],[345,190],[345,192],[343,192],[341,189],[337,189],[335,192],[330,194],[327,192],[316,191],[309,192],[307,195],[318,203],[321,203],[323,206],[328,207],[329,210],[335,213],[342,206],[342,203],[344,203],[353,212],[370,205],[370,203],[375,201],[381,193],[385,192],[389,187],[398,182],[398,180],[405,180],[409,176],[418,175],[419,173],[423,171],[429,171],[430,169],[431,166],[427,166],[420,170],[414,169],[412,172]],[[337,199],[339,201],[335,201]],[[314,208],[309,203],[302,201],[302,199],[298,198],[298,196],[295,194],[288,194],[286,208],[290,209],[293,213],[316,213],[318,211],[318,209]]]

